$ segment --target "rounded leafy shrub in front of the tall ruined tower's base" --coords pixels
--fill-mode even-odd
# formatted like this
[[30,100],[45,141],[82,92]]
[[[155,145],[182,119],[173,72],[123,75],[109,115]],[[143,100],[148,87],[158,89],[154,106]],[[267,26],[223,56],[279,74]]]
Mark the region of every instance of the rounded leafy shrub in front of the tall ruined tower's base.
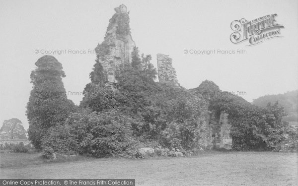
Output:
[[69,121],[80,153],[107,157],[123,153],[133,142],[134,120],[118,110],[74,113]]

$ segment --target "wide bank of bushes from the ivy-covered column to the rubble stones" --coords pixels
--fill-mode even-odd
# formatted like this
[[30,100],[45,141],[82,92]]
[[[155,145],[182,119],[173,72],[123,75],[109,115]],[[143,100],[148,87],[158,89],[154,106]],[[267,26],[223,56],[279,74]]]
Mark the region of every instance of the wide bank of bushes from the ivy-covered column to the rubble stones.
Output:
[[125,114],[110,110],[72,113],[64,125],[50,128],[42,139],[46,155],[87,153],[95,157],[124,156],[133,142],[131,123]]

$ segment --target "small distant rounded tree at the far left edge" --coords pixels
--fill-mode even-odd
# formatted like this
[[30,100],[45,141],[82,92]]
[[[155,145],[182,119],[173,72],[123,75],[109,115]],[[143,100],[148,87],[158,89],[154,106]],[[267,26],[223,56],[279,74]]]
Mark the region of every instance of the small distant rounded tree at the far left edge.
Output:
[[26,130],[22,122],[16,118],[4,120],[0,128],[0,138],[2,139],[26,139]]

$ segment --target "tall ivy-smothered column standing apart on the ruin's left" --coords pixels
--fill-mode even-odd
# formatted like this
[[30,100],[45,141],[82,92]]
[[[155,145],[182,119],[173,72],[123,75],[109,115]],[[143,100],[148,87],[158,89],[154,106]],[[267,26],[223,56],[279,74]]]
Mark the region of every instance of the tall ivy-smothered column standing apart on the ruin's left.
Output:
[[62,82],[62,77],[65,77],[62,64],[53,56],[43,56],[35,65],[37,68],[30,75],[33,90],[27,103],[26,115],[29,139],[36,149],[41,149],[41,139],[47,135],[48,128],[62,124],[75,107],[67,99]]

